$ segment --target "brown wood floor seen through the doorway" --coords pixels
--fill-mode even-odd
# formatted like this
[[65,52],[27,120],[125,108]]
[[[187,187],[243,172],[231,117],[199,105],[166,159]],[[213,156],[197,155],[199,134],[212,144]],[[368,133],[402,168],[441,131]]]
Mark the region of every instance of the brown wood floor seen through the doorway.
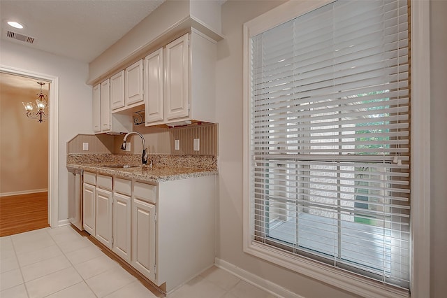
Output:
[[43,227],[50,227],[47,192],[0,197],[1,237]]

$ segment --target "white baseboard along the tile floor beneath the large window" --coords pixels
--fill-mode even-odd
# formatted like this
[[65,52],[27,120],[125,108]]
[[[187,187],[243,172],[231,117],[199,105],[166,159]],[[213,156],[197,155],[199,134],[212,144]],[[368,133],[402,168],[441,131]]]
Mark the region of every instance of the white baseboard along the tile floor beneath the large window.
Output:
[[264,278],[257,276],[256,274],[252,274],[249,271],[245,271],[244,269],[241,269],[219,258],[214,259],[214,265],[216,267],[219,267],[223,270],[230,272],[230,274],[237,276],[238,278],[242,279],[242,281],[246,281],[247,283],[250,283],[251,285],[254,285],[257,288],[261,288],[265,292],[269,292],[270,294],[276,297],[305,298],[295,294],[294,292],[291,292],[290,290],[287,290],[286,288],[282,288],[280,285],[277,285],[276,283],[267,281]]

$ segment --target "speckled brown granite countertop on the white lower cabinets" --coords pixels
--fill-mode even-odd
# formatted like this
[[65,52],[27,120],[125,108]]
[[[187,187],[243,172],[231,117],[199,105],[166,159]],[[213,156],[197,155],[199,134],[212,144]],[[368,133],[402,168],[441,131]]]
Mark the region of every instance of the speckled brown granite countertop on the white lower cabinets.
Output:
[[[115,163],[116,164],[116,163]],[[163,182],[170,180],[179,180],[186,178],[217,175],[217,169],[196,169],[177,166],[142,166],[138,165],[130,168],[108,168],[110,163],[85,163],[69,164],[67,168],[82,169],[85,171],[100,173],[119,178],[138,179],[148,182]]]

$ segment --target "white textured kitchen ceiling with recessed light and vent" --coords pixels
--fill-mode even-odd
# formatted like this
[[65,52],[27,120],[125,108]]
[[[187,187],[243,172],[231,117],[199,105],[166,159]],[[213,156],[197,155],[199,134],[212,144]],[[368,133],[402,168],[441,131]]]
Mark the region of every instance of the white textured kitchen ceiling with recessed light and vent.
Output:
[[[164,1],[0,0],[1,40],[88,63]],[[25,27],[10,27],[8,20]],[[34,38],[34,42],[8,37],[7,31],[17,38]]]

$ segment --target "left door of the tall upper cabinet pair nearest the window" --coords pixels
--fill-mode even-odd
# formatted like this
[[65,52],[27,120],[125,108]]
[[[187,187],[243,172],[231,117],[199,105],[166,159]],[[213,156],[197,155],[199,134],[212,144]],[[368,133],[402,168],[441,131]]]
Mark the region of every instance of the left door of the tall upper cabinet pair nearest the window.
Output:
[[145,57],[146,125],[163,120],[163,48]]

